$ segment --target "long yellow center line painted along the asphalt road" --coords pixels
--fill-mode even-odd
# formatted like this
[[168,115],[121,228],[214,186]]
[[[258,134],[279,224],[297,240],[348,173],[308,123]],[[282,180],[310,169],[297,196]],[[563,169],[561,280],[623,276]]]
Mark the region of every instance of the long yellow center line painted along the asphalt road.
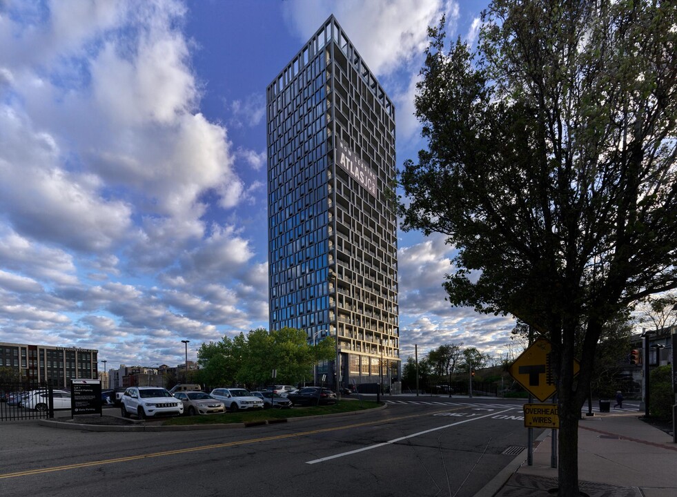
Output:
[[441,411],[436,411],[436,412],[433,412],[433,413],[410,414],[409,416],[399,416],[397,418],[387,418],[387,419],[384,419],[384,420],[367,421],[367,422],[362,422],[362,423],[355,423],[354,425],[331,427],[331,428],[322,428],[322,429],[316,429],[316,430],[311,430],[311,431],[301,431],[300,433],[286,433],[284,435],[275,435],[275,436],[268,436],[268,437],[261,437],[261,438],[250,438],[248,440],[238,440],[236,442],[224,442],[224,443],[219,443],[219,444],[200,445],[199,447],[190,447],[188,449],[176,449],[176,450],[171,450],[171,451],[153,452],[151,454],[139,454],[138,456],[127,456],[127,457],[122,457],[122,458],[103,459],[103,460],[88,461],[88,462],[77,462],[77,463],[72,464],[72,465],[52,466],[52,467],[45,467],[45,468],[38,468],[38,469],[28,469],[26,471],[16,471],[14,473],[0,474],[0,480],[4,479],[4,478],[17,478],[17,476],[32,476],[32,475],[37,475],[37,474],[53,473],[55,471],[66,471],[67,469],[78,469],[78,468],[85,468],[85,467],[92,467],[92,466],[115,464],[115,463],[118,463],[118,462],[129,462],[129,461],[147,459],[147,458],[174,456],[176,454],[187,454],[188,452],[197,452],[197,451],[204,451],[204,450],[210,450],[210,449],[223,449],[224,447],[236,447],[237,445],[247,445],[247,444],[253,444],[253,443],[258,443],[258,442],[270,442],[271,440],[284,440],[285,438],[297,438],[297,437],[302,437],[302,436],[315,435],[316,433],[327,433],[328,431],[353,429],[353,428],[365,427],[365,426],[369,426],[369,425],[379,425],[379,424],[383,424],[383,423],[391,422],[391,421],[400,421],[400,420],[405,420],[405,419],[409,419],[409,418],[418,418],[420,416],[431,416],[431,415],[436,414],[436,413],[448,412],[450,410],[456,411],[458,409],[463,409],[463,408],[457,407],[455,409],[443,409]]

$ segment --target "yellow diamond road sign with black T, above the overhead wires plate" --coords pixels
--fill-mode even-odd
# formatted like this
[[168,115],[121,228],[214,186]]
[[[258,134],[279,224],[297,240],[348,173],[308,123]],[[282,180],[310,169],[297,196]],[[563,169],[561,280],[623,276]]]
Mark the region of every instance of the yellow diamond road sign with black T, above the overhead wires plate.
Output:
[[[541,402],[553,396],[557,388],[550,352],[549,340],[538,338],[522,352],[509,370],[510,376]],[[574,359],[573,374],[577,375],[579,370],[580,364]]]

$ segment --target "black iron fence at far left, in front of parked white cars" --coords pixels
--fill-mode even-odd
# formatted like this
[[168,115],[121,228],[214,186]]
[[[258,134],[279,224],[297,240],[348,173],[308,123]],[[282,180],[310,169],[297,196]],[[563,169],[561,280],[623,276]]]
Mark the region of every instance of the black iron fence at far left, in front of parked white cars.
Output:
[[0,421],[54,418],[51,382],[0,382]]

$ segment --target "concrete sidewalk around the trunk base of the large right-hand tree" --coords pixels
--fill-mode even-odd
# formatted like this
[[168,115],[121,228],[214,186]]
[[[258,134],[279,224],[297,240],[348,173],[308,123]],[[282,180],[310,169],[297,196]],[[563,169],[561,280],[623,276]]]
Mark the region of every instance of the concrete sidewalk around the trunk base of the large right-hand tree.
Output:
[[[677,496],[677,444],[665,431],[643,422],[638,411],[595,413],[578,427],[578,481],[590,497]],[[475,497],[557,495],[551,467],[551,430],[534,429],[533,465],[524,450]]]

